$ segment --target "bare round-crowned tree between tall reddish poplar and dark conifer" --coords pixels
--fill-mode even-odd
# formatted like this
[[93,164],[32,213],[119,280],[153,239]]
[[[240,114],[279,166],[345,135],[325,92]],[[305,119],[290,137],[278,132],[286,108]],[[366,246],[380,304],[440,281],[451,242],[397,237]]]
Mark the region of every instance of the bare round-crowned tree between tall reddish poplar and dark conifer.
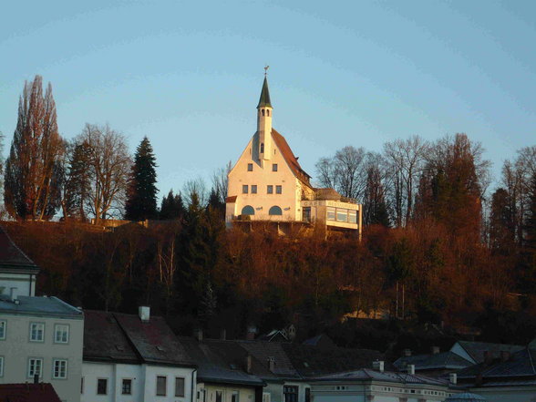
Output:
[[98,223],[124,207],[131,168],[129,149],[125,138],[108,126],[86,124],[77,141],[88,147],[88,210]]

